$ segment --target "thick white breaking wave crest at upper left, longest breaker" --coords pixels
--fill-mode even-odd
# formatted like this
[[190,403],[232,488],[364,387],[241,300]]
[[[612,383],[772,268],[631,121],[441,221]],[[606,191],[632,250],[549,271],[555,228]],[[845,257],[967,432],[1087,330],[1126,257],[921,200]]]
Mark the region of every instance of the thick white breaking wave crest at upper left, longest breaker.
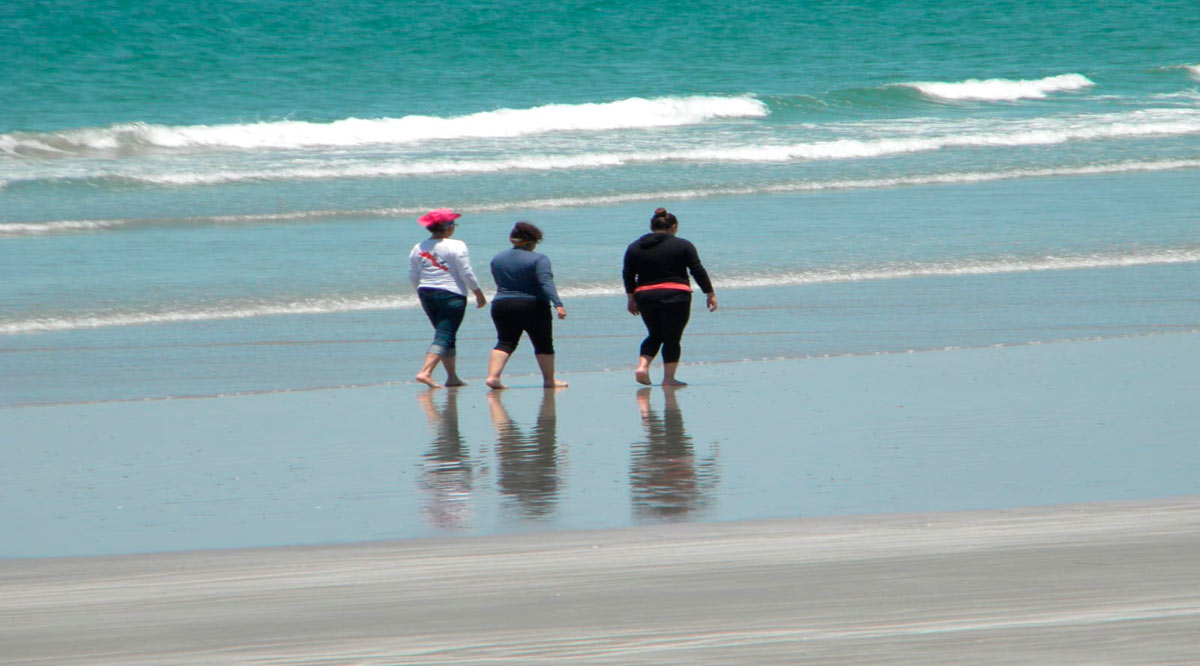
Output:
[[347,118],[334,122],[281,120],[235,125],[166,126],[145,122],[48,134],[0,134],[0,151],[54,154],[163,149],[305,149],[408,144],[430,139],[518,137],[545,132],[692,125],[719,118],[761,118],[767,106],[751,96],[630,97],[616,102],[546,104],[462,116]]

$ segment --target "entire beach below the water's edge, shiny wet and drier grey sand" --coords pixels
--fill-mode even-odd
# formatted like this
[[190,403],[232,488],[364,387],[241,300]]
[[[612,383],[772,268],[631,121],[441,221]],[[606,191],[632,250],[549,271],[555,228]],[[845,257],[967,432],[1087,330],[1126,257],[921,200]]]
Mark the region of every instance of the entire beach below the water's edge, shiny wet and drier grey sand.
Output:
[[[1198,337],[695,365],[671,396],[580,373],[550,397],[515,376],[503,397],[388,385],[0,410],[58,451],[8,451],[11,497],[34,499],[6,533],[41,556],[127,553],[10,545],[4,661],[1190,664]],[[150,418],[224,457],[160,451],[130,473]],[[322,430],[347,424],[365,434]],[[301,461],[300,433],[335,450]],[[496,469],[433,491],[444,468],[398,486],[364,472],[446,442]],[[522,442],[556,462],[505,457]],[[655,446],[684,449],[662,466]],[[202,497],[229,450],[269,476],[289,449],[320,480],[299,499],[224,476]],[[54,521],[37,498],[64,482],[121,491],[77,491]]]

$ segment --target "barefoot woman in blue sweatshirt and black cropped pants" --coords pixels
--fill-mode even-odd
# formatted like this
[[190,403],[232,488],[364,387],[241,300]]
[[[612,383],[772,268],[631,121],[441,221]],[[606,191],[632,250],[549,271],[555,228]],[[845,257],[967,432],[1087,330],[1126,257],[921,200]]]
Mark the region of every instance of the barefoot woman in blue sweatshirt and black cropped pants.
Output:
[[554,306],[559,319],[566,318],[566,308],[554,288],[550,258],[534,252],[541,242],[541,229],[528,222],[517,222],[509,241],[511,248],[492,257],[492,278],[496,281],[492,322],[497,341],[487,362],[486,384],[492,389],[505,388],[500,373],[524,332],[533,344],[542,385],[547,389],[564,388],[566,382],[554,379],[554,324],[550,307]]

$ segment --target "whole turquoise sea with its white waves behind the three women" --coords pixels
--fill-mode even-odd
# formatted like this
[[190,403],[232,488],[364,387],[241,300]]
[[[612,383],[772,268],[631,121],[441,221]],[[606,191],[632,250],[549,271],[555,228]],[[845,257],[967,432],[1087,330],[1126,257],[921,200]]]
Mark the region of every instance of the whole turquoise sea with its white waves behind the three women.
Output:
[[685,361],[1194,331],[1198,43],[1186,1],[8,4],[0,406],[404,380],[438,206],[485,282],[545,229],[568,373],[631,362],[659,205],[721,298]]

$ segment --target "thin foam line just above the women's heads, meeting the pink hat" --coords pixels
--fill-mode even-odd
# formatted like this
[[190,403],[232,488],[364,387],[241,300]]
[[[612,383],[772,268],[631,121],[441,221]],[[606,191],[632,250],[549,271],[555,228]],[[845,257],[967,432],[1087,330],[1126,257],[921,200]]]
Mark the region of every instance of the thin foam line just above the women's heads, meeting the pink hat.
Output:
[[[494,204],[462,204],[463,212],[503,212],[506,210],[541,210],[580,208],[590,205],[624,204],[652,200],[688,200],[706,197],[770,194],[787,192],[821,192],[830,190],[872,190],[886,187],[911,187],[922,185],[954,185],[1015,180],[1022,178],[1050,178],[1064,175],[1099,175],[1129,172],[1160,172],[1200,168],[1200,160],[1158,160],[1152,162],[1117,162],[1084,167],[1048,167],[1042,169],[1010,169],[1000,172],[925,174],[913,176],[847,179],[812,182],[781,182],[744,187],[700,187],[694,190],[668,190],[660,192],[629,192],[620,194],[596,194],[590,197],[557,197],[523,199]],[[263,212],[244,215],[206,215],[176,218],[118,218],[118,220],[56,220],[49,222],[0,222],[0,238],[36,236],[59,233],[97,232],[121,227],[150,224],[250,224],[256,222],[304,222],[335,220],[340,217],[404,217],[416,216],[433,208],[373,208],[352,210],[305,210],[293,212]]]

